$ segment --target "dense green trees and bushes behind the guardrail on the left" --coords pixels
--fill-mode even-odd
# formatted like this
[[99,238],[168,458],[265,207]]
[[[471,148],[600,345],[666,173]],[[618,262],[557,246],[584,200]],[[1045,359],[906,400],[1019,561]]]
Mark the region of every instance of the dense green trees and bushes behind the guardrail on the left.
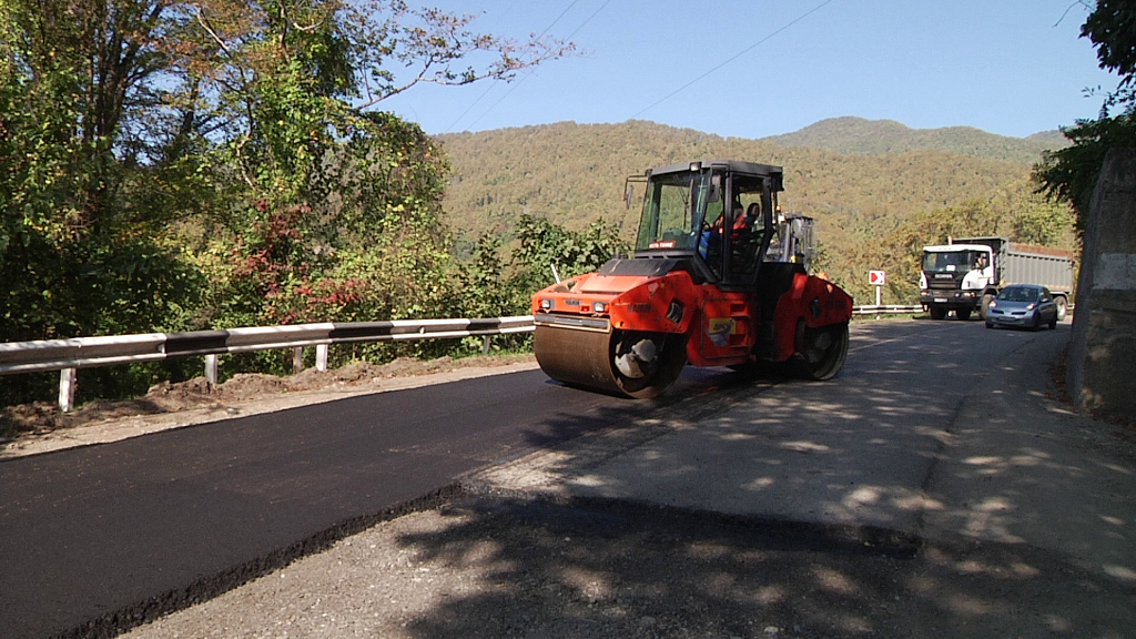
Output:
[[[571,50],[470,25],[401,0],[2,0],[0,334],[451,314],[448,164],[369,108]],[[144,390],[134,371],[81,385]],[[50,392],[15,380],[0,400]]]

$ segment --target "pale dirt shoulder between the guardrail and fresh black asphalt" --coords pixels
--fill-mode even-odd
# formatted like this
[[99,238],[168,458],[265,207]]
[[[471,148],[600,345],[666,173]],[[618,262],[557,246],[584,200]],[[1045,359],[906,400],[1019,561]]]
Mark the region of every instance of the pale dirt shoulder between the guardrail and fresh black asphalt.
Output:
[[210,385],[204,377],[164,382],[137,399],[98,400],[70,413],[50,403],[0,409],[0,459],[106,443],[147,433],[284,410],[358,395],[386,392],[536,368],[532,355],[491,355],[432,360],[399,358],[387,364],[352,364],[335,371],[315,368],[277,377],[239,374]]

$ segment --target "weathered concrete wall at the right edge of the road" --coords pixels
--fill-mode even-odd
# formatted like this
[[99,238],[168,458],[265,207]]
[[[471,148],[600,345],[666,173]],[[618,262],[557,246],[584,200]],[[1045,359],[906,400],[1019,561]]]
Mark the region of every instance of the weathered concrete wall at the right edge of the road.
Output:
[[1136,415],[1136,149],[1109,151],[1093,192],[1068,382],[1080,409]]

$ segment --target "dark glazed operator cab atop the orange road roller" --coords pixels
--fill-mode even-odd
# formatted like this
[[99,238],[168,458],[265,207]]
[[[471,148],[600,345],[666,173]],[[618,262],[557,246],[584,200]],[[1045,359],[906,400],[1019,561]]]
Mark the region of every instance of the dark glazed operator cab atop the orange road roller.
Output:
[[695,161],[646,172],[636,258],[688,264],[696,281],[749,289],[772,236],[780,167]]

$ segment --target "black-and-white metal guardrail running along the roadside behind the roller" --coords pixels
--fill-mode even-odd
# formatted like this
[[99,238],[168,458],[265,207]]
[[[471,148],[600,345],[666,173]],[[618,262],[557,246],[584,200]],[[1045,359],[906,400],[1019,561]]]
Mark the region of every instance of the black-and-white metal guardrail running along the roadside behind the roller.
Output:
[[[917,313],[921,308],[918,305],[855,306],[852,314]],[[532,331],[533,316],[519,315],[479,320],[334,322],[7,342],[0,343],[0,375],[59,371],[59,407],[67,412],[75,401],[78,368],[203,356],[206,379],[217,383],[217,356],[228,352],[291,348],[294,349],[294,362],[300,362],[302,349],[315,346],[316,368],[326,371],[328,347],[334,343],[484,337],[483,352],[487,352],[491,335]]]

